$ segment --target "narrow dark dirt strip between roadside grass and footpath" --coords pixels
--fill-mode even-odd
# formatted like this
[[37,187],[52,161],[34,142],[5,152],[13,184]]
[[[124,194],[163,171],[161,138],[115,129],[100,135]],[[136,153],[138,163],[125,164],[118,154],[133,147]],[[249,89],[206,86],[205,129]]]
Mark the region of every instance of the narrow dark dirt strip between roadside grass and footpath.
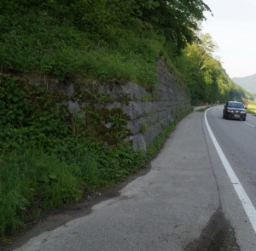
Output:
[[83,217],[91,213],[91,208],[97,203],[108,200],[113,197],[119,196],[119,191],[128,185],[132,180],[137,179],[137,177],[148,174],[150,167],[141,169],[137,174],[131,174],[119,185],[105,189],[103,191],[98,191],[90,196],[84,198],[84,201],[71,205],[67,208],[55,209],[44,212],[40,219],[37,221],[26,225],[26,228],[20,230],[20,233],[14,237],[14,240],[9,245],[1,245],[1,251],[11,251],[15,248],[19,248],[24,245],[32,237],[36,237],[44,231],[52,231],[55,228],[65,225],[68,221]]

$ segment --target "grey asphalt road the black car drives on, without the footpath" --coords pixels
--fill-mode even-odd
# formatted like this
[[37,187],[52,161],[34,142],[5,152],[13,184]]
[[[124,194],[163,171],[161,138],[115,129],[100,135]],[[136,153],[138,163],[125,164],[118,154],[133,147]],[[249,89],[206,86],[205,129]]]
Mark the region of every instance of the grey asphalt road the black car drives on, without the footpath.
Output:
[[[207,144],[212,149],[212,166],[225,217],[235,228],[241,250],[253,251],[256,250],[256,212],[254,208],[250,208],[250,212],[246,213],[243,206],[247,206],[248,202],[244,197],[239,198],[235,189],[237,183],[240,183],[252,207],[256,206],[256,117],[247,115],[246,122],[225,120],[222,111],[223,106],[213,107],[207,111],[207,121],[238,181],[232,184],[230,178],[227,178],[224,165],[219,164],[216,151],[209,142],[212,139],[209,139]],[[251,220],[247,214],[251,214]],[[254,230],[251,221],[254,221]]]

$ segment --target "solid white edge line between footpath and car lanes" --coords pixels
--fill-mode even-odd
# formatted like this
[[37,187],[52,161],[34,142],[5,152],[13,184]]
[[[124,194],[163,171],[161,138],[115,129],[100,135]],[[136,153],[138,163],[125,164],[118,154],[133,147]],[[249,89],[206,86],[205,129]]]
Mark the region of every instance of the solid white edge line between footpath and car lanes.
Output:
[[[207,111],[210,109],[211,108],[207,109]],[[240,181],[236,177],[234,170],[231,168],[230,163],[228,162],[227,158],[224,155],[224,152],[221,150],[221,147],[218,145],[218,141],[216,140],[214,134],[212,133],[212,129],[210,128],[209,123],[207,121],[207,111],[205,112],[205,121],[206,121],[206,125],[207,125],[207,130],[212,138],[212,142],[213,142],[216,150],[218,151],[218,156],[220,157],[221,162],[223,163],[224,168],[230,177],[231,183],[234,186],[236,194],[241,201],[241,204],[247,214],[247,217],[251,221],[251,224],[253,225],[253,230],[256,233],[256,210],[255,210],[250,198],[247,196],[246,191],[243,189]]]

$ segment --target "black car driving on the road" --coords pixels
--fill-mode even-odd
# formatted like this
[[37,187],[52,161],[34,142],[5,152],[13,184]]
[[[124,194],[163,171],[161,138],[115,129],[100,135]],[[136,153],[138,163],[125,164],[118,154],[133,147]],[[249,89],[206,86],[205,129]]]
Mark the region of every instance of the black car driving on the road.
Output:
[[224,106],[223,117],[226,119],[236,118],[236,119],[242,119],[243,121],[246,121],[247,110],[241,102],[229,101]]

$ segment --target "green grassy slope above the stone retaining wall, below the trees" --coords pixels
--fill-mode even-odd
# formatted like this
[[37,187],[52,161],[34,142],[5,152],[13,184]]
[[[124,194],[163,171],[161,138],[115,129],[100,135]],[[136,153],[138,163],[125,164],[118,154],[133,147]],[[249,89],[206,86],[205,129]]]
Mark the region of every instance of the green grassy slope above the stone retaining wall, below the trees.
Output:
[[0,60],[4,70],[39,71],[60,79],[76,74],[101,81],[130,79],[154,86],[164,39],[139,26],[113,30],[111,41],[105,41],[40,9],[6,10],[0,15]]

